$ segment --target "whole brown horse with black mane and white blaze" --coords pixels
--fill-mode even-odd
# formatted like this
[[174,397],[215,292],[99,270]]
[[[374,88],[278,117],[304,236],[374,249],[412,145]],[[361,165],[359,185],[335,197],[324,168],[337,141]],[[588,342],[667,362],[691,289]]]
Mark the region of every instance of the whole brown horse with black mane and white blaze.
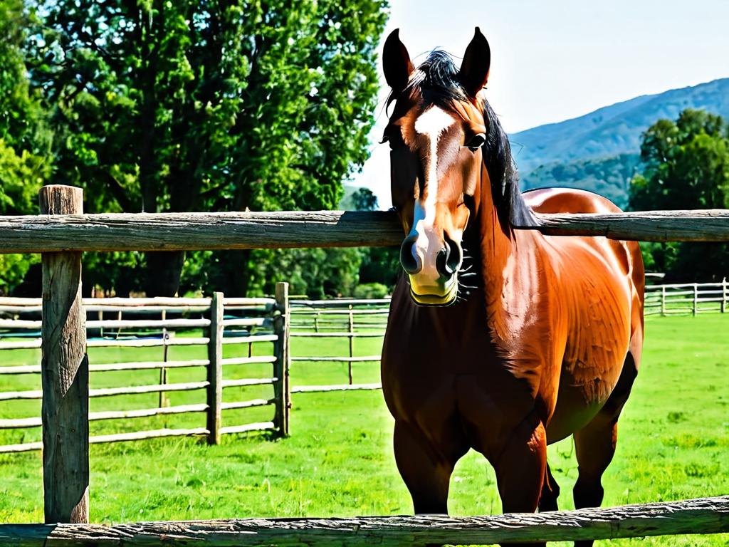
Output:
[[535,225],[533,212],[620,209],[580,190],[519,192],[484,96],[490,58],[478,28],[460,69],[439,51],[415,69],[397,31],[384,47],[407,275],[392,297],[382,383],[416,513],[447,512],[453,466],[470,448],[494,466],[505,512],[555,510],[546,446],[568,435],[574,505],[600,505],[642,348],[636,243],[512,228]]

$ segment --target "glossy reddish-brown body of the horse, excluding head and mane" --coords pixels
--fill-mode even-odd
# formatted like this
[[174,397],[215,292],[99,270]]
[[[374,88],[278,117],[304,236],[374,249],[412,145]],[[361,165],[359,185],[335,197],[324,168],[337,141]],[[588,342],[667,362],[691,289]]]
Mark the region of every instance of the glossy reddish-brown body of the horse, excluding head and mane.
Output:
[[[536,212],[619,210],[579,190],[525,196]],[[588,426],[611,396],[606,419],[612,422],[637,372],[644,274],[637,244],[535,230],[511,235],[501,244],[483,242],[487,281],[467,300],[418,306],[407,276],[393,294],[383,391],[396,421],[403,476],[414,474],[402,468],[412,468],[421,451],[435,463],[421,464],[423,474],[437,469],[434,475],[442,475],[437,495],[424,495],[424,512],[445,512],[444,483],[468,449],[484,454],[498,475],[499,462],[526,446],[520,427],[526,426],[527,442],[539,424],[545,443],[559,441]],[[605,435],[612,442],[612,430]],[[509,486],[501,489],[531,490],[534,507],[520,503],[513,511],[533,511],[542,491],[543,479],[524,471],[516,481],[504,477]],[[537,475],[546,477],[542,465]]]

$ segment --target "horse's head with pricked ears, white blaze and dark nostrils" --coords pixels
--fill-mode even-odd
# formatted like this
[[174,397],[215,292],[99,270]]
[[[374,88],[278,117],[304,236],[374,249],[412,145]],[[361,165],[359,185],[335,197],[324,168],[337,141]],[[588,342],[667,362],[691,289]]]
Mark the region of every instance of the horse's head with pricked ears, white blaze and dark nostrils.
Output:
[[[410,295],[421,305],[456,300],[464,233],[480,206],[481,181],[491,171],[484,169],[487,156],[502,141],[508,147],[483,96],[490,63],[488,41],[478,28],[460,69],[442,51],[413,67],[397,30],[385,42],[383,67],[389,103],[395,104],[383,141],[391,148],[392,203],[405,230],[400,263]],[[502,138],[494,139],[495,133]],[[508,150],[501,156],[499,182],[505,184],[503,164],[510,167],[511,158]]]

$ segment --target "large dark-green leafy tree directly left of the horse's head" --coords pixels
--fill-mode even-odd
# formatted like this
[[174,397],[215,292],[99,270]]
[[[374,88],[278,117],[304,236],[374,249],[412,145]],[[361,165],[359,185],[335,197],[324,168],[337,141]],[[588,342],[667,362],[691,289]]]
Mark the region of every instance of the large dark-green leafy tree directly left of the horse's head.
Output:
[[[384,7],[39,1],[31,75],[53,111],[55,180],[85,187],[90,212],[332,208],[367,155]],[[145,288],[174,292],[187,263],[243,294],[254,255],[204,271],[204,253],[150,253]]]

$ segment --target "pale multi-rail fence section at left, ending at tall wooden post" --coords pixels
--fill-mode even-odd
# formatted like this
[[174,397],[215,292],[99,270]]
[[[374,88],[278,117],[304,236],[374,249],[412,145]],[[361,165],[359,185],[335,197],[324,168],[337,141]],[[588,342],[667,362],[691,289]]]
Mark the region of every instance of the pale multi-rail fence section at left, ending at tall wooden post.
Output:
[[[95,435],[89,443],[111,443],[136,441],[140,439],[173,437],[179,435],[204,435],[208,443],[219,443],[220,435],[255,430],[272,430],[281,435],[289,432],[290,392],[288,389],[288,300],[287,284],[276,287],[276,298],[224,298],[217,292],[213,298],[86,298],[83,300],[83,314],[98,315],[99,319],[87,320],[86,329],[98,330],[101,338],[88,338],[87,347],[93,348],[149,348],[163,349],[163,359],[144,362],[107,362],[88,365],[95,375],[109,371],[159,370],[157,384],[125,387],[89,389],[89,397],[112,397],[144,393],[159,393],[156,408],[133,410],[99,411],[88,414],[89,422],[98,420],[130,419],[173,414],[204,413],[204,424],[199,427],[166,428]],[[20,340],[0,341],[0,350],[40,348],[42,339],[35,337],[42,328],[39,319],[27,319],[42,309],[41,298],[0,298],[0,331],[7,330],[18,338],[18,331],[31,336]],[[237,316],[225,317],[225,311]],[[163,319],[139,319],[139,315],[154,313]],[[106,319],[104,319],[106,314]],[[126,314],[127,317],[122,317]],[[196,315],[196,318],[170,318],[167,316]],[[133,315],[134,319],[129,319]],[[113,316],[113,319],[109,317]],[[247,316],[247,317],[246,317]],[[122,330],[134,330],[139,336],[121,335]],[[203,336],[175,336],[179,330],[203,330]],[[106,336],[104,336],[106,333]],[[110,334],[111,333],[111,334]],[[0,338],[1,340],[1,338]],[[241,357],[222,356],[222,347],[229,344],[247,349]],[[273,344],[273,354],[253,355],[254,345]],[[172,346],[203,346],[206,359],[168,360],[168,349]],[[256,352],[259,353],[259,352]],[[265,352],[268,353],[268,352]],[[226,378],[225,368],[232,365],[253,365],[270,363],[272,374],[266,378]],[[168,383],[167,373],[171,369],[205,368],[206,379]],[[42,372],[39,364],[0,366],[0,375],[36,375]],[[223,401],[222,391],[228,387],[272,386],[273,396],[251,400]],[[200,403],[168,406],[165,394],[168,392],[204,391]],[[41,399],[41,389],[0,392],[0,401]],[[269,422],[223,425],[223,411],[241,408],[273,406],[273,419]],[[41,427],[39,416],[17,419],[0,419],[0,430]],[[42,449],[42,442],[19,443],[0,446],[0,454]]]

